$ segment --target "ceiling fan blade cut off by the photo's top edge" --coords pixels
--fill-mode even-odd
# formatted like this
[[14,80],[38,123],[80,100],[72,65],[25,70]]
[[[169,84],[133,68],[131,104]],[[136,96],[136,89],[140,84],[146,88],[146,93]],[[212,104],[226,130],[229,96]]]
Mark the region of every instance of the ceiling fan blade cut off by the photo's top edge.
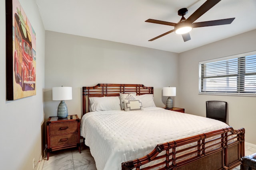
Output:
[[193,23],[200,16],[202,16],[204,13],[206,13],[208,10],[210,10],[214,5],[218,4],[218,2],[220,2],[220,0],[207,0],[193,14],[191,14],[191,16],[188,17],[186,22]]

